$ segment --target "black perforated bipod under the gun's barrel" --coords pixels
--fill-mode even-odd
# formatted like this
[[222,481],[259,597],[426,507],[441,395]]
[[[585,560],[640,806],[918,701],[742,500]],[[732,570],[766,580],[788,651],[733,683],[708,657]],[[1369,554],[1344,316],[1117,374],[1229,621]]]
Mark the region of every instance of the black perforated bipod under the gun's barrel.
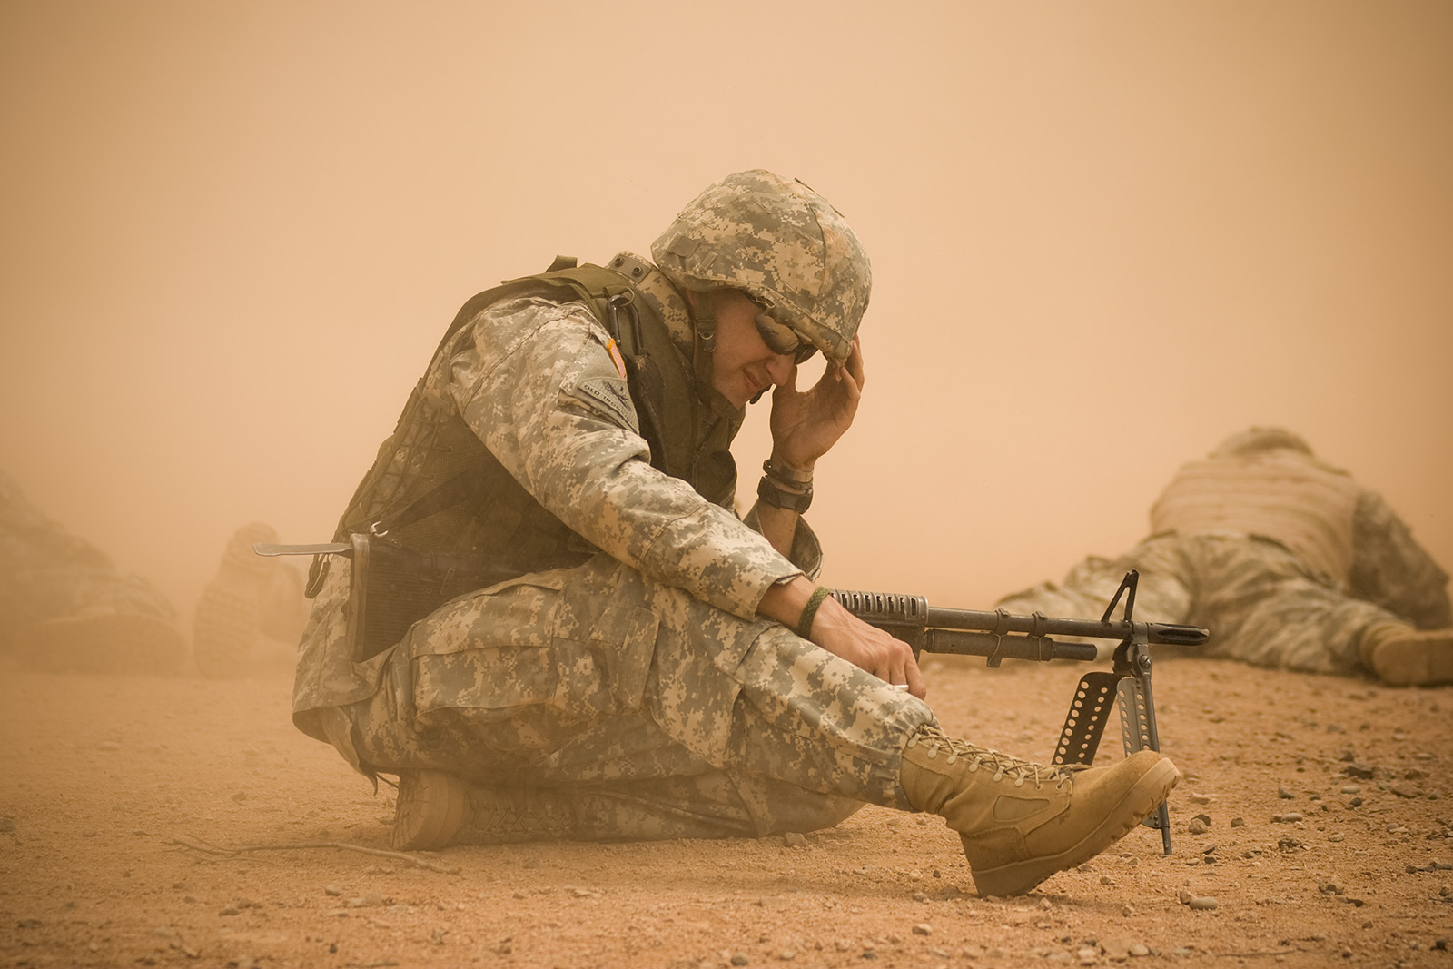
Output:
[[[1100,622],[1109,622],[1110,613],[1125,596],[1125,622],[1133,622],[1135,587],[1139,572],[1133,568],[1125,574],[1120,588],[1114,593]],[[1132,626],[1139,631],[1142,626]],[[1142,632],[1132,632],[1114,649],[1113,670],[1096,670],[1080,677],[1075,694],[1069,700],[1065,725],[1059,731],[1055,747],[1055,764],[1090,764],[1100,747],[1104,732],[1106,708],[1112,697],[1120,706],[1120,734],[1126,755],[1142,750],[1161,750],[1161,738],[1155,729],[1155,697],[1151,693],[1151,649]],[[1146,828],[1159,828],[1165,854],[1171,853],[1171,818],[1165,802],[1155,814],[1142,821]]]

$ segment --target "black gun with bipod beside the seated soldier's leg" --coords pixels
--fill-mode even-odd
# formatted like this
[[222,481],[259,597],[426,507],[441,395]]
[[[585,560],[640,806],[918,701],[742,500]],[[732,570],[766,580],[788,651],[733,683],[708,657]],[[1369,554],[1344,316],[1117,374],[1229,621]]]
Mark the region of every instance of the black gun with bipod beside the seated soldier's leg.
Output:
[[[1162,622],[1135,622],[1135,587],[1139,572],[1125,574],[1120,588],[1110,600],[1100,622],[1091,619],[1052,619],[1043,613],[1016,616],[997,609],[930,607],[923,596],[885,593],[856,593],[833,590],[833,599],[850,613],[878,626],[883,632],[920,652],[987,657],[989,667],[1003,660],[1078,660],[1093,661],[1098,649],[1087,642],[1055,642],[1051,636],[1080,636],[1085,639],[1117,639],[1113,668],[1096,670],[1080,677],[1069,700],[1065,725],[1055,747],[1055,764],[1090,764],[1104,732],[1106,708],[1112,697],[1119,700],[1120,728],[1126,755],[1141,750],[1159,751],[1161,738],[1155,729],[1155,700],[1151,693],[1152,645],[1197,646],[1206,642],[1209,631]],[[1125,616],[1110,615],[1125,597]],[[1165,802],[1142,824],[1159,828],[1165,854],[1171,853],[1171,824]]]

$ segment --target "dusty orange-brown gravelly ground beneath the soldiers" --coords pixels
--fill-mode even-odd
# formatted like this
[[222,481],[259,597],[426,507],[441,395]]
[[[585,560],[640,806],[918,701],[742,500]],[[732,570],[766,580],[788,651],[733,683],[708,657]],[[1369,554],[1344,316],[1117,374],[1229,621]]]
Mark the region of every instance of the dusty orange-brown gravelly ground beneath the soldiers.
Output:
[[[950,729],[1048,758],[1081,667],[1010,665],[940,665],[930,699]],[[1138,828],[982,899],[937,821],[876,808],[805,840],[418,856],[453,872],[206,856],[177,841],[386,848],[389,790],[292,729],[283,678],[4,676],[4,965],[1453,969],[1453,689],[1161,662],[1162,747],[1187,774],[1174,854]]]

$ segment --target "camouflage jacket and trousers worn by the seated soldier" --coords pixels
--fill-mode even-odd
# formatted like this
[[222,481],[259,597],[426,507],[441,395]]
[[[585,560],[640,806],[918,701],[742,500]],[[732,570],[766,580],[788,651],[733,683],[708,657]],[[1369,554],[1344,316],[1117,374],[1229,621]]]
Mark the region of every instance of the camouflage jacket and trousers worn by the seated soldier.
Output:
[[[629,253],[609,266],[689,373],[680,293]],[[369,774],[432,767],[558,798],[575,837],[757,835],[831,825],[862,802],[907,806],[898,760],[928,708],[756,615],[773,583],[815,575],[819,548],[799,522],[788,561],[732,511],[741,413],[702,407],[695,453],[667,475],[623,378],[583,302],[510,298],[446,341],[355,498],[355,527],[469,453],[509,478],[405,543],[509,548],[529,571],[353,662],[349,564],[331,559],[302,639],[298,726]]]

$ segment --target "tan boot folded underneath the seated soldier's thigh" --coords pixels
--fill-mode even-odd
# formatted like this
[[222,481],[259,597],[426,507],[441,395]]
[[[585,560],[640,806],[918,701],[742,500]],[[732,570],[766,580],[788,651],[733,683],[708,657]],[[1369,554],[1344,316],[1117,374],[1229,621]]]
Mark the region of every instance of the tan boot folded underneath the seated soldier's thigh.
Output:
[[574,811],[552,792],[485,787],[443,770],[410,770],[398,776],[389,840],[401,851],[433,851],[449,844],[556,840],[574,830]]

